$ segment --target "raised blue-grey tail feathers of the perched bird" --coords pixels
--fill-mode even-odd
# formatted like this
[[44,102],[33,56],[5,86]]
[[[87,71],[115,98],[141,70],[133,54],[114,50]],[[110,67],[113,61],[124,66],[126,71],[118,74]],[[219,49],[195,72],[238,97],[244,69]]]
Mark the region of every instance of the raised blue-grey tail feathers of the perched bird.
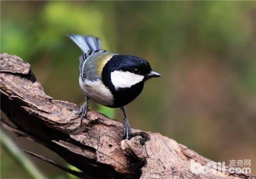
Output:
[[101,50],[101,39],[90,35],[68,34],[77,46],[84,52]]

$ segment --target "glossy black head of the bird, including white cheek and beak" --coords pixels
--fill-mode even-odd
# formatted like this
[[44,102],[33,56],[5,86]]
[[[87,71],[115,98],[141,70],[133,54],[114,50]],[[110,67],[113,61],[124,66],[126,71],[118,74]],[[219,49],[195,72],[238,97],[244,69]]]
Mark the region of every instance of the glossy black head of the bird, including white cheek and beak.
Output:
[[115,106],[133,101],[142,91],[144,82],[160,77],[146,60],[132,55],[114,55],[102,70],[102,81],[114,95]]

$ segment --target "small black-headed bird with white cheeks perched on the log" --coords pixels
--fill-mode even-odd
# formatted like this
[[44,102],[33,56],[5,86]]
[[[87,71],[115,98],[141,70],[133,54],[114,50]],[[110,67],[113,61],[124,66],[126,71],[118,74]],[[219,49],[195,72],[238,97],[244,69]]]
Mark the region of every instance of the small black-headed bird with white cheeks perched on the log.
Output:
[[92,99],[101,105],[122,110],[123,137],[129,139],[133,132],[125,106],[139,96],[145,81],[162,75],[153,71],[150,63],[143,58],[103,50],[98,37],[67,36],[83,51],[79,57],[79,85],[85,100],[76,113],[81,118],[81,124],[88,112],[88,100]]

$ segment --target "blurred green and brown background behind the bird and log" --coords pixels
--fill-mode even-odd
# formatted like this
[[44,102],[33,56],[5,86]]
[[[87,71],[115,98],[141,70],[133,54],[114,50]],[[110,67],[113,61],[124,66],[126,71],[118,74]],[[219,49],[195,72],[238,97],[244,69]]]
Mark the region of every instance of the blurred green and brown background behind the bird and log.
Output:
[[[256,174],[255,1],[1,1],[1,53],[31,63],[46,94],[81,105],[82,52],[67,33],[98,36],[105,50],[147,59],[163,75],[127,106],[132,127],[160,132],[215,161],[251,160]],[[115,115],[100,109],[122,121],[118,109]],[[63,162],[5,132],[19,148]],[[49,178],[68,178],[30,159]],[[32,178],[3,146],[1,178]]]

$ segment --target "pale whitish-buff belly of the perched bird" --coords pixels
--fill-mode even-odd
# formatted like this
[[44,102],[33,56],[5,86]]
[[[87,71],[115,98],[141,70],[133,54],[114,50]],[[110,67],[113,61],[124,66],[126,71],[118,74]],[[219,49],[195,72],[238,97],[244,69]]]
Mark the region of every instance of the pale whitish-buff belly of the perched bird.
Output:
[[95,102],[104,106],[113,105],[113,95],[110,92],[110,89],[106,87],[101,80],[90,81],[84,79],[84,81],[82,81],[81,77],[79,77],[79,84],[84,95],[91,98]]

